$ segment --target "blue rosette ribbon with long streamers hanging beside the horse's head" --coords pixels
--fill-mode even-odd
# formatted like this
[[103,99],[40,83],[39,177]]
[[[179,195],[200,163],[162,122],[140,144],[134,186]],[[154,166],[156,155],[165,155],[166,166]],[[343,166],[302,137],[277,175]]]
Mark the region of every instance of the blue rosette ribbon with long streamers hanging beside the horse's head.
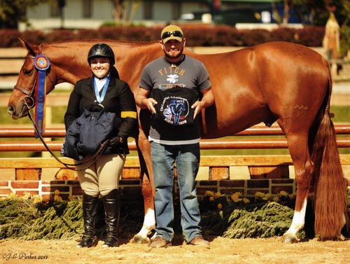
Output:
[[[46,96],[46,70],[50,67],[48,57],[37,55],[34,57],[34,66],[38,69],[38,79],[36,81],[36,108],[35,108],[35,123],[38,127],[38,132],[43,134],[45,129],[45,96]],[[36,138],[39,135],[36,134]]]

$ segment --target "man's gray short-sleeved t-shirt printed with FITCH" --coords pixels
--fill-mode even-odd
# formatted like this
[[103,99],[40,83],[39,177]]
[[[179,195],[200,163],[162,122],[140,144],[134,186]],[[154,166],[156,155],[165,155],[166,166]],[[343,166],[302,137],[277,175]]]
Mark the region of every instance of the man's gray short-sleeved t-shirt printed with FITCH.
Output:
[[[211,82],[202,62],[183,55],[183,59],[177,64],[168,62],[165,57],[147,64],[141,74],[140,87],[151,92],[153,89],[188,88],[195,90],[200,96],[200,91],[210,88]],[[149,140],[167,145],[198,143],[200,141],[198,118],[193,125],[184,126],[169,125],[153,118]]]

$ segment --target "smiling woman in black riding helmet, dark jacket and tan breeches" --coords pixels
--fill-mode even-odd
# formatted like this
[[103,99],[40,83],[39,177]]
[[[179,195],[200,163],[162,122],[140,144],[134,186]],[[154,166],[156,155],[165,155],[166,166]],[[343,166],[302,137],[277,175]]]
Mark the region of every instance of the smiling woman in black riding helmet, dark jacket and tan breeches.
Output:
[[109,146],[94,165],[78,170],[83,190],[85,233],[77,247],[90,247],[97,242],[94,225],[99,196],[102,196],[106,214],[106,239],[102,246],[118,246],[118,186],[125,158],[129,153],[127,137],[137,131],[136,104],[129,85],[118,79],[118,71],[113,67],[115,57],[110,46],[105,43],[92,46],[87,62],[92,76],[78,81],[71,92],[64,115],[66,130],[82,115],[87,106],[102,105],[106,112],[116,113],[116,118]]

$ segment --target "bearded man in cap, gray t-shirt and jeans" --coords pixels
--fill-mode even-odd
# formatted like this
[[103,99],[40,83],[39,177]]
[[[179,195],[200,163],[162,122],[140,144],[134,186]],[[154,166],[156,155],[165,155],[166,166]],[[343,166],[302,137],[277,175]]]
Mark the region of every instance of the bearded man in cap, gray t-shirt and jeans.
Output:
[[186,38],[180,27],[165,27],[160,46],[165,55],[146,65],[136,97],[137,105],[152,113],[149,140],[155,186],[156,235],[151,247],[172,245],[175,164],[183,237],[188,244],[209,246],[202,237],[195,177],[200,164],[198,114],[202,108],[214,104],[211,82],[204,64],[183,54]]

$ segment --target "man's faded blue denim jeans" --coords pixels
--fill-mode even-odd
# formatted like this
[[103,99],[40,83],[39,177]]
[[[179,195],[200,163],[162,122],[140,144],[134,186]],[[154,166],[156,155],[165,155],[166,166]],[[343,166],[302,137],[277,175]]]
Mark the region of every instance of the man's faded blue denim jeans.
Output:
[[200,207],[195,177],[200,166],[200,144],[163,145],[151,143],[155,185],[155,232],[172,241],[174,237],[174,164],[178,176],[181,204],[181,228],[186,242],[202,235]]

